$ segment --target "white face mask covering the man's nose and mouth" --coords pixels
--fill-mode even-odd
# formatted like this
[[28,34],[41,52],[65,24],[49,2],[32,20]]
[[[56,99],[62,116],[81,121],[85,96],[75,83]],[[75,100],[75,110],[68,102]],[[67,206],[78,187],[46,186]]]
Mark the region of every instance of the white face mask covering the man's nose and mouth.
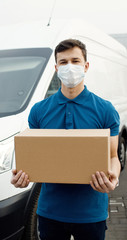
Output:
[[84,79],[84,66],[75,64],[61,65],[58,68],[57,76],[66,87],[73,88]]

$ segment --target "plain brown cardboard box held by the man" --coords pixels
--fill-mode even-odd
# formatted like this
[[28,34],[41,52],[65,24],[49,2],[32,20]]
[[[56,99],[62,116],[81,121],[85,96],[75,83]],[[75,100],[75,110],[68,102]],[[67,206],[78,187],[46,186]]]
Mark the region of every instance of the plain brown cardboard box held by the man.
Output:
[[15,136],[15,154],[32,182],[89,184],[110,169],[110,130],[26,129]]

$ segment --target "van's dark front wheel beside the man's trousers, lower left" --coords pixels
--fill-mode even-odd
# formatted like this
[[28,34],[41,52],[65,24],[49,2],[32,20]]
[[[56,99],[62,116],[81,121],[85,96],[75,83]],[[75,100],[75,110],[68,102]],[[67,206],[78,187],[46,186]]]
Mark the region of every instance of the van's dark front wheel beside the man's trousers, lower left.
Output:
[[34,193],[34,196],[31,202],[31,207],[29,210],[24,234],[21,240],[39,240],[40,239],[39,232],[38,232],[38,220],[37,220],[37,214],[36,214],[40,189],[41,189],[41,184],[38,184],[37,190]]

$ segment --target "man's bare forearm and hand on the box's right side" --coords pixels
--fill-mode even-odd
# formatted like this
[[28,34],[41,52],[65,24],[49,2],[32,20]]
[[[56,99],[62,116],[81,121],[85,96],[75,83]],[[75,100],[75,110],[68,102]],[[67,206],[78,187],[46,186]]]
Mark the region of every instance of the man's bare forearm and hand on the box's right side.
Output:
[[90,181],[91,187],[102,193],[109,193],[113,191],[118,183],[120,175],[120,162],[117,155],[118,148],[118,136],[110,137],[111,145],[111,170],[108,171],[109,179],[103,172],[96,172],[92,175]]

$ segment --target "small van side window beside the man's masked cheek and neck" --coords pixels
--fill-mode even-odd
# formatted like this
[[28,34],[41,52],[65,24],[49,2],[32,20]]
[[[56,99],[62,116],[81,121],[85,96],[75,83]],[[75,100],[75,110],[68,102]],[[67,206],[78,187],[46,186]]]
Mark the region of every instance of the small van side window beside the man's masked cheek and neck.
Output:
[[52,94],[56,93],[60,86],[61,86],[60,79],[57,77],[57,73],[55,72],[49,85],[48,91],[45,95],[45,98],[50,97]]

